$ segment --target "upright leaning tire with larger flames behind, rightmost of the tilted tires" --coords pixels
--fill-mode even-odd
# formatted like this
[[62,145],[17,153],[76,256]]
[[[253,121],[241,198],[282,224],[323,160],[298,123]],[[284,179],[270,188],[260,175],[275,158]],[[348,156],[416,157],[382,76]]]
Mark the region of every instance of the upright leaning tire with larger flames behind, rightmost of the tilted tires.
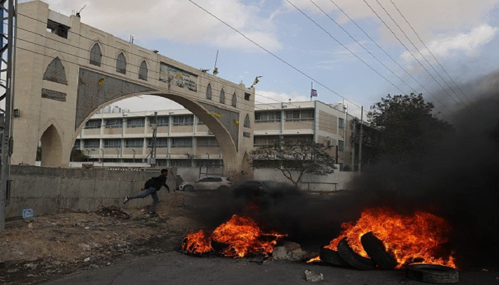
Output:
[[393,269],[397,266],[397,259],[391,254],[391,252],[386,252],[386,248],[378,239],[373,232],[368,232],[361,237],[361,243],[364,250],[367,252],[369,257],[378,264],[381,269]]

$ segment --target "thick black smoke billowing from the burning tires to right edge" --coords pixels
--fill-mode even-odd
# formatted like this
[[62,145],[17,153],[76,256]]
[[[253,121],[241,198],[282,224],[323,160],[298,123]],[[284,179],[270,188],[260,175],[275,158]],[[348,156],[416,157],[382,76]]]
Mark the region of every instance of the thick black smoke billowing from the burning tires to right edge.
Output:
[[215,229],[232,214],[245,214],[318,252],[339,234],[342,222],[359,219],[366,207],[390,207],[401,214],[423,210],[451,223],[446,249],[456,252],[458,266],[497,266],[499,73],[462,88],[472,103],[453,114],[456,134],[446,138],[444,150],[418,157],[421,170],[408,172],[380,160],[352,182],[355,190],[336,195],[307,195],[292,188],[260,195],[217,194],[200,215],[206,228]]

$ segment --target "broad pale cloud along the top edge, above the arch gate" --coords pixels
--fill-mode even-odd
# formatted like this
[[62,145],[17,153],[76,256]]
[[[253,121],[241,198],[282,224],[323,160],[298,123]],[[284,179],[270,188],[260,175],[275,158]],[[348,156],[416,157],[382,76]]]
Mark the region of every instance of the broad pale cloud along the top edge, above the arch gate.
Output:
[[[50,8],[71,14],[84,4],[81,21],[108,33],[128,38],[134,35],[140,43],[168,39],[182,43],[203,43],[221,48],[256,51],[258,48],[232,29],[202,11],[190,1],[148,0],[45,0]],[[230,26],[245,33],[272,51],[281,48],[273,32],[274,25],[260,16],[259,6],[238,0],[194,0]]]

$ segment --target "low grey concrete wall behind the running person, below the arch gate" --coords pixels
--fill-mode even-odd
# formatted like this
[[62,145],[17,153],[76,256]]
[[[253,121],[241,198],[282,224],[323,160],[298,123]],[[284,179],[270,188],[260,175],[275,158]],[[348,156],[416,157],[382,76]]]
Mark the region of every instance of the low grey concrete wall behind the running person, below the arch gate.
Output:
[[[100,204],[123,207],[125,195],[138,194],[146,180],[158,175],[159,170],[83,170],[12,165],[11,199],[6,216],[21,216],[22,209],[28,208],[34,209],[34,214],[56,214],[63,209],[95,211]],[[168,186],[175,189],[173,175],[168,176]],[[160,200],[164,195],[168,195],[168,191],[162,188],[158,192]],[[150,197],[134,199],[128,202],[128,207],[152,202]]]

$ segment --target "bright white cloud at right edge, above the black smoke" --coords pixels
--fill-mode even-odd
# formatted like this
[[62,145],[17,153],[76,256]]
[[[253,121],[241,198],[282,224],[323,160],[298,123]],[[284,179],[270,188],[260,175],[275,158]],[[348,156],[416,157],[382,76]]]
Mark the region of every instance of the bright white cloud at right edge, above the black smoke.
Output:
[[[461,56],[464,52],[467,56],[478,56],[480,48],[497,36],[499,28],[487,24],[473,28],[469,33],[458,33],[454,36],[437,39],[427,44],[430,51],[436,58],[447,58],[450,56]],[[426,48],[420,49],[423,56],[431,58]],[[412,51],[413,55],[422,61],[421,55],[417,51]],[[402,53],[401,57],[408,63],[413,63],[414,59],[408,51]]]

